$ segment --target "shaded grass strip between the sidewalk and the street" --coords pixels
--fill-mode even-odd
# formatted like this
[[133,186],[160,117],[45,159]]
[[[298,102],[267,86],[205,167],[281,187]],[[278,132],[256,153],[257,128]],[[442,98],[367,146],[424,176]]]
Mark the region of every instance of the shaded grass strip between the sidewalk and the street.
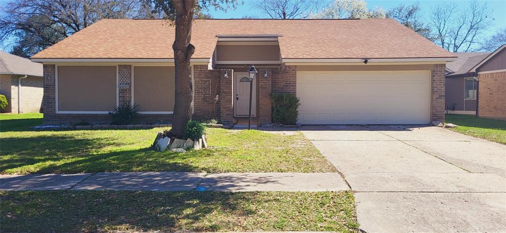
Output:
[[4,232],[357,232],[351,192],[0,192]]

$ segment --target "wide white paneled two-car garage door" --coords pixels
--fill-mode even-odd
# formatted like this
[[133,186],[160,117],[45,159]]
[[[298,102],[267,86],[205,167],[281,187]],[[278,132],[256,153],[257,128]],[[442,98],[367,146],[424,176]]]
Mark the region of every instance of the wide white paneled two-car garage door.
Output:
[[427,124],[430,71],[299,71],[300,124]]

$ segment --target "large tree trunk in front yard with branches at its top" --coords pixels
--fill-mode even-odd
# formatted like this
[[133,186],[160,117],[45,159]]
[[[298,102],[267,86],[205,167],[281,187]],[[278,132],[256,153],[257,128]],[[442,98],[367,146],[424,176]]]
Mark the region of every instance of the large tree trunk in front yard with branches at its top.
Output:
[[[155,9],[163,11],[167,19],[176,27],[176,37],[172,44],[176,69],[176,93],[174,104],[174,121],[172,134],[178,138],[184,136],[186,123],[191,120],[191,102],[193,99],[193,82],[191,79],[190,60],[195,46],[190,43],[194,18],[199,18],[209,7],[226,11],[231,5],[236,7],[236,0],[153,0]],[[172,26],[171,25],[171,26]]]

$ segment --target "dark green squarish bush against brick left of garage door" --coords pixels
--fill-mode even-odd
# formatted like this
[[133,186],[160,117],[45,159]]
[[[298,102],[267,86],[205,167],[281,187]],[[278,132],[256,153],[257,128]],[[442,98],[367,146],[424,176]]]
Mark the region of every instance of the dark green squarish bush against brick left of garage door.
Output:
[[280,124],[297,124],[300,99],[291,93],[270,95],[272,102],[272,122]]

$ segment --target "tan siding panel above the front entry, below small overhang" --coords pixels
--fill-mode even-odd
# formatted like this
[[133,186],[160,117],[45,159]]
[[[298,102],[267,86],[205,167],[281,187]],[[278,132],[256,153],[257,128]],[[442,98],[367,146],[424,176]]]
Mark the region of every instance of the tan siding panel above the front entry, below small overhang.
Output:
[[279,45],[217,45],[217,61],[279,61]]

